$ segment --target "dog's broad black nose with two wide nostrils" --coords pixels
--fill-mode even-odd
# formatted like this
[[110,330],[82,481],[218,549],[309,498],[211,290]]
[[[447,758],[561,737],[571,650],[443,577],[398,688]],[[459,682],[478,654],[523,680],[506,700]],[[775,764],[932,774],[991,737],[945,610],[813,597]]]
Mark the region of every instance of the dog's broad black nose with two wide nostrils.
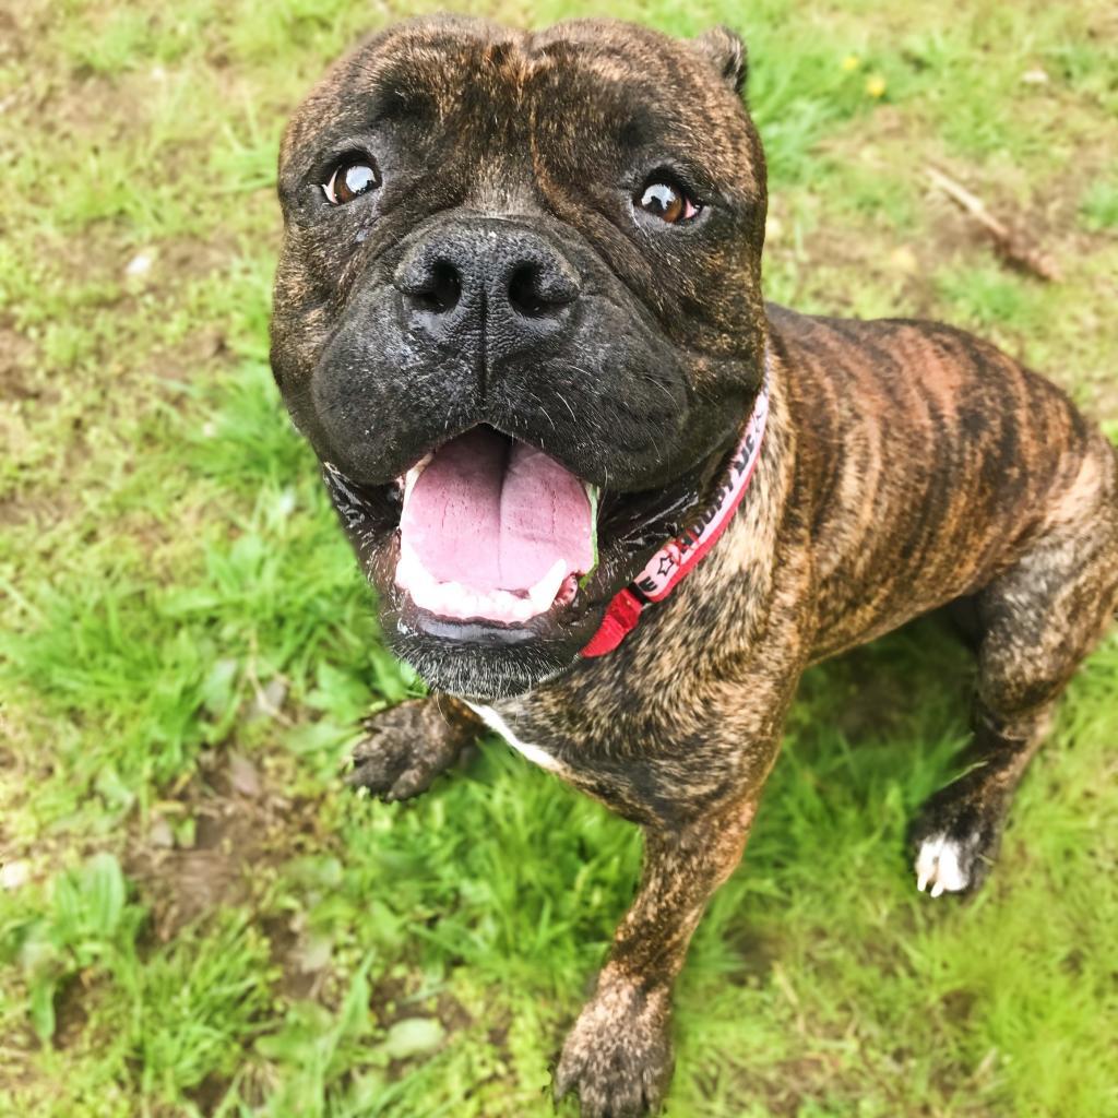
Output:
[[566,331],[578,274],[548,239],[514,221],[458,220],[415,244],[396,269],[408,326],[433,340],[484,339],[508,357]]

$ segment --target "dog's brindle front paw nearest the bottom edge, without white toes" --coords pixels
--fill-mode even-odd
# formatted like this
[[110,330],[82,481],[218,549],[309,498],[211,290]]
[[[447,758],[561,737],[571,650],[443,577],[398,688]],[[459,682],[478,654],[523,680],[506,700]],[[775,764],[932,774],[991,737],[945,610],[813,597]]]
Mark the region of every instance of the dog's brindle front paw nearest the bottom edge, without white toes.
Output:
[[556,1102],[574,1091],[581,1118],[659,1114],[672,1078],[670,1017],[666,991],[599,984],[563,1044]]

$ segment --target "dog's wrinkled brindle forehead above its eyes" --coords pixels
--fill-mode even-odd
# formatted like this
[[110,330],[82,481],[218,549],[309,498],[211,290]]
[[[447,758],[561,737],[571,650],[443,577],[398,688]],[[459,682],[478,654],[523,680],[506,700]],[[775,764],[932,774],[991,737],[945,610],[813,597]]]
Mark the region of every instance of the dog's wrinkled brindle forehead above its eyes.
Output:
[[710,61],[685,40],[610,20],[541,32],[445,18],[392,28],[314,89],[282,161],[401,123],[448,134],[482,158],[487,149],[533,162],[655,152],[701,161],[726,187],[754,186],[751,125]]

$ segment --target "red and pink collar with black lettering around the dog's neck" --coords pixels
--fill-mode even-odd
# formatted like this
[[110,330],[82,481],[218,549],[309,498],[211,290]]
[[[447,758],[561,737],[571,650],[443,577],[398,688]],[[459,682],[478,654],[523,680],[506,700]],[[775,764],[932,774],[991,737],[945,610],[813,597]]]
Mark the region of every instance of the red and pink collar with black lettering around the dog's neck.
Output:
[[768,408],[769,379],[766,371],[754,413],[730,456],[713,500],[699,510],[683,533],[665,543],[648,560],[644,570],[609,603],[598,632],[581,655],[601,656],[613,652],[636,628],[642,612],[654,601],[663,601],[726,531],[757,468]]

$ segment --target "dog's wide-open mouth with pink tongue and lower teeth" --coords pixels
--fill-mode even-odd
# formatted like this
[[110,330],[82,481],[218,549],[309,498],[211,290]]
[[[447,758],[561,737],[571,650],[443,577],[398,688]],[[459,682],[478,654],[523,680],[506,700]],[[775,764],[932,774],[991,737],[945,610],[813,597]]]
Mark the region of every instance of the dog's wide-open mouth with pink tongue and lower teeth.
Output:
[[574,600],[597,561],[597,489],[479,426],[401,479],[396,585],[439,617],[519,625]]

